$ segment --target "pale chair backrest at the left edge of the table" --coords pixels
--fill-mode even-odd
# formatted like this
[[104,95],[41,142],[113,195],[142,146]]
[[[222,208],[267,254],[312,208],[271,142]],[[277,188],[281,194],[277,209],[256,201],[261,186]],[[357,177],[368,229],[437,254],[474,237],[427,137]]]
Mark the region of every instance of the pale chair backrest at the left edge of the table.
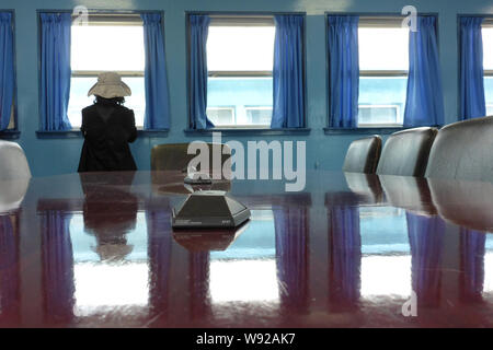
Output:
[[24,151],[15,142],[0,140],[0,180],[31,178]]

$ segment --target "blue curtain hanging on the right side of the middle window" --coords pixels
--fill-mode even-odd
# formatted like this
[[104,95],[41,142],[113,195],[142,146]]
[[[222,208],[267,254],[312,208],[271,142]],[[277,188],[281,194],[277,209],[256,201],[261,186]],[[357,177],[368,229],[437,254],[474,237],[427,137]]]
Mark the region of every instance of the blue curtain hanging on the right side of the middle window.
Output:
[[275,15],[271,128],[305,126],[302,15]]

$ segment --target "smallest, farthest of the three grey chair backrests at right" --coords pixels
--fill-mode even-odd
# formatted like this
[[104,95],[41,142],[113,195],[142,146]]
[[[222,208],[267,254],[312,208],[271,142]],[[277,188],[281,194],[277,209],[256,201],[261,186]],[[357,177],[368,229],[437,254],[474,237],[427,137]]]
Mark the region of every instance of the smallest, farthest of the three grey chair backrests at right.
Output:
[[377,135],[355,140],[344,160],[344,172],[374,174],[381,151],[381,138]]

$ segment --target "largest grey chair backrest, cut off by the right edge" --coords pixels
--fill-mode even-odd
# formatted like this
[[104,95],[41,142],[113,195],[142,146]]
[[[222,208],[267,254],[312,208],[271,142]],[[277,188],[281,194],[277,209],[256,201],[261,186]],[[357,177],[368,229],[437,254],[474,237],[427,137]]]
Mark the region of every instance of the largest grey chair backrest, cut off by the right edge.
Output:
[[425,175],[493,182],[493,117],[442,128],[433,142]]

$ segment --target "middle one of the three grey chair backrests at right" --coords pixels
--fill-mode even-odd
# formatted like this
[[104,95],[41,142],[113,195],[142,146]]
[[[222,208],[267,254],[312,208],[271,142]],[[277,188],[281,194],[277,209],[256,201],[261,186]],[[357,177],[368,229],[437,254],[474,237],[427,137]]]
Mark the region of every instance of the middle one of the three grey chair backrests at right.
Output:
[[424,127],[389,136],[381,151],[377,174],[423,177],[437,132],[436,128]]

